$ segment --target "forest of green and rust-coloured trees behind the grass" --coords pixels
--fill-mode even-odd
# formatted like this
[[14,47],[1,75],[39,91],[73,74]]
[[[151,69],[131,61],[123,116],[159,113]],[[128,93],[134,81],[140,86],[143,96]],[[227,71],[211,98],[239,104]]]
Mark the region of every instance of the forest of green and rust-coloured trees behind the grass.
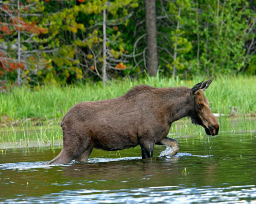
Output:
[[[20,84],[154,76],[148,56],[154,47],[147,42],[153,31],[146,28],[152,16],[145,12],[152,2],[0,0],[0,92]],[[156,0],[152,6],[162,76],[256,74],[255,0]]]

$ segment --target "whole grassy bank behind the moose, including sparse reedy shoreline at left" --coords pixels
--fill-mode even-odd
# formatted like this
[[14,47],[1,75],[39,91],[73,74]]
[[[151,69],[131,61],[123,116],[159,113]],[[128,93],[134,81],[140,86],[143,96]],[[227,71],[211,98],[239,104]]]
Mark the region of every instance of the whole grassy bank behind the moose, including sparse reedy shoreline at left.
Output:
[[[61,143],[59,123],[70,107],[81,101],[94,101],[123,95],[139,84],[155,87],[188,86],[208,79],[183,81],[167,78],[87,83],[79,86],[42,86],[38,90],[23,86],[0,94],[0,143],[17,143],[30,146],[31,141],[41,144]],[[230,114],[232,108],[238,115],[256,112],[256,77],[224,76],[216,78],[204,92],[212,112]],[[241,116],[242,119],[244,116]],[[223,118],[220,118],[225,122]],[[186,125],[183,125],[186,128]],[[189,128],[186,128],[189,129]],[[171,129],[175,132],[175,130]],[[187,131],[187,130],[186,130]],[[201,130],[199,130],[201,131]],[[34,143],[32,144],[34,145]]]

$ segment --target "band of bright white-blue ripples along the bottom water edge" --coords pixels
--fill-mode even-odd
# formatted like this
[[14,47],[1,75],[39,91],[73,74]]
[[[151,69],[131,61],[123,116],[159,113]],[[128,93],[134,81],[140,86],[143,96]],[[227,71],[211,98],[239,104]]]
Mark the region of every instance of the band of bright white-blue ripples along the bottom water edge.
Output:
[[[242,189],[241,189],[242,188]],[[248,203],[256,200],[255,185],[229,188],[182,188],[180,186],[133,188],[121,190],[61,191],[41,197],[14,198],[2,203]]]

